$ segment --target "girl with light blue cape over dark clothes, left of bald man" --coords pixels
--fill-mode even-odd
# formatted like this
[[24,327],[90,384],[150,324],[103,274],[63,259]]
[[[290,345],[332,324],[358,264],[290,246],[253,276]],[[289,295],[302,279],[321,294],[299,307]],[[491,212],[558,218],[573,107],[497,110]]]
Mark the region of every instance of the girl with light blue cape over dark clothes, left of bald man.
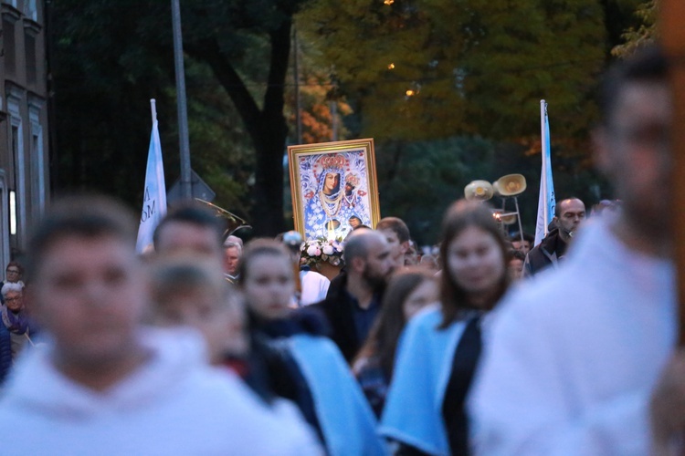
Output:
[[238,266],[238,287],[252,319],[253,337],[269,345],[278,365],[272,388],[293,400],[331,455],[386,454],[374,412],[342,354],[321,336],[318,314],[290,309],[295,292],[290,254],[269,239],[249,243]]

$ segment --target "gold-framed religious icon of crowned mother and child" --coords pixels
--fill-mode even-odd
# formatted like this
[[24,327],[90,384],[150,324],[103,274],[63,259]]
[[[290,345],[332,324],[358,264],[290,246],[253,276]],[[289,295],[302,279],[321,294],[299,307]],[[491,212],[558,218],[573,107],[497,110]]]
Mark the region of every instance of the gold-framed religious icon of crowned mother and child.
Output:
[[288,147],[295,229],[304,239],[339,239],[380,218],[374,140]]

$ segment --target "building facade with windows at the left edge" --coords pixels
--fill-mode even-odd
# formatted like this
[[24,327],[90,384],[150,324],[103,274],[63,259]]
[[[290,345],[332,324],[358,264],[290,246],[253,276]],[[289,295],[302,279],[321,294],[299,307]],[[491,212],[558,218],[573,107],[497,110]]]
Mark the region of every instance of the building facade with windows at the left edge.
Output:
[[20,256],[49,195],[44,4],[1,0],[0,262]]

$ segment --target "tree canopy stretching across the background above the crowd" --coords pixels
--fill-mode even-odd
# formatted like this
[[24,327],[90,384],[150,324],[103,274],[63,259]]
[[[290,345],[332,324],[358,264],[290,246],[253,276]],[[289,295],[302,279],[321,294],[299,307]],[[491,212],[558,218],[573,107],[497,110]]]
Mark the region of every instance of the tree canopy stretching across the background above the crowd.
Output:
[[[564,152],[556,162],[577,174],[577,163],[588,162],[595,78],[609,50],[626,39],[621,34],[649,26],[649,16],[634,16],[643,3],[184,1],[193,167],[217,192],[216,202],[249,218],[258,233],[285,228],[283,153],[295,141],[290,32],[297,21],[303,139],[332,138],[332,101],[348,114],[342,135],[374,137],[385,214],[416,212],[407,208],[425,201],[432,181],[486,173],[465,164],[484,144],[496,157],[536,150],[540,98],[553,112],[554,147]],[[56,190],[94,188],[137,207],[149,98],[157,98],[167,186],[179,174],[169,5],[48,6]],[[511,140],[524,147],[501,145]],[[412,181],[419,176],[429,185]]]

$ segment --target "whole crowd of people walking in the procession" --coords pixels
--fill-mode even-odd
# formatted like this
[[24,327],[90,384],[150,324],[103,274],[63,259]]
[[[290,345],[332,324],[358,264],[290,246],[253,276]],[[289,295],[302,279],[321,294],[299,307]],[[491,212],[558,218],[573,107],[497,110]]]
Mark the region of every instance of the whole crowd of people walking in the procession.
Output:
[[618,199],[559,201],[537,245],[460,200],[437,255],[386,217],[329,280],[297,233],[244,244],[193,202],[144,255],[120,203],[53,203],[1,285],[0,452],[678,454],[668,67],[606,76]]

